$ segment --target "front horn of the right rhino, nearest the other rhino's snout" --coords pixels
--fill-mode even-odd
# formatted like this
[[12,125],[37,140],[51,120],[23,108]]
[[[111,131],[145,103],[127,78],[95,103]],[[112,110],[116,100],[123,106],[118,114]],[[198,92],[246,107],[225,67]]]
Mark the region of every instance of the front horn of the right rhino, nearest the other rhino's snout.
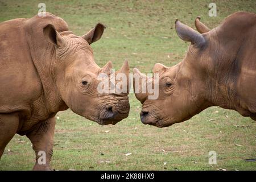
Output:
[[143,104],[147,99],[147,76],[137,68],[133,69],[133,89],[135,97]]

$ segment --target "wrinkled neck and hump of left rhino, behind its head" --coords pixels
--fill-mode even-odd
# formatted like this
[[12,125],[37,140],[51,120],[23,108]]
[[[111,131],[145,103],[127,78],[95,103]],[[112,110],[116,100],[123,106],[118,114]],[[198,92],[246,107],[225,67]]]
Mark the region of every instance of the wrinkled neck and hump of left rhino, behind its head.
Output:
[[57,113],[57,111],[68,109],[65,102],[61,99],[55,84],[55,74],[53,65],[56,63],[55,47],[49,44],[43,35],[43,27],[48,23],[55,25],[57,30],[67,31],[68,26],[64,20],[49,15],[43,19],[34,16],[28,19],[24,24],[26,30],[27,44],[30,49],[31,60],[42,84],[43,107],[48,114]]

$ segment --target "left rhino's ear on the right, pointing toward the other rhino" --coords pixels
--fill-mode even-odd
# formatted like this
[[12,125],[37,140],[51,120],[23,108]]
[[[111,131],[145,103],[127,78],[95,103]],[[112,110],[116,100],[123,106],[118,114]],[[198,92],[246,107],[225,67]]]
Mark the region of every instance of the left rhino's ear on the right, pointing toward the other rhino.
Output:
[[98,23],[96,27],[83,35],[82,38],[84,38],[89,44],[92,44],[101,38],[105,28],[106,27],[103,24]]

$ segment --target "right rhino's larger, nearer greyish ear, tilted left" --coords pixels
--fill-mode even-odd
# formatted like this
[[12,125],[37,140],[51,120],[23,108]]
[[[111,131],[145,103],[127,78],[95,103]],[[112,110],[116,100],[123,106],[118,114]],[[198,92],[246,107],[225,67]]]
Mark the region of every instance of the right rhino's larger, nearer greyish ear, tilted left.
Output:
[[180,39],[184,40],[185,42],[191,42],[197,47],[204,46],[206,43],[203,35],[199,34],[199,32],[193,30],[191,27],[181,23],[177,19],[175,21],[175,29]]

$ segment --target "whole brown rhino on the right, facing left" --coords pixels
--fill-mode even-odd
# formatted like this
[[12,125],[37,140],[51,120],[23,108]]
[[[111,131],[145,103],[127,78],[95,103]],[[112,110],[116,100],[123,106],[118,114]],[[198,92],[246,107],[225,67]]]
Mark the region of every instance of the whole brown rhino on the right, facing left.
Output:
[[[234,13],[212,30],[200,18],[195,23],[199,32],[175,21],[177,35],[191,45],[175,66],[154,65],[159,80],[151,80],[158,82],[158,98],[135,93],[143,104],[142,123],[167,127],[210,106],[233,109],[256,121],[256,14]],[[148,79],[137,68],[134,76]]]

